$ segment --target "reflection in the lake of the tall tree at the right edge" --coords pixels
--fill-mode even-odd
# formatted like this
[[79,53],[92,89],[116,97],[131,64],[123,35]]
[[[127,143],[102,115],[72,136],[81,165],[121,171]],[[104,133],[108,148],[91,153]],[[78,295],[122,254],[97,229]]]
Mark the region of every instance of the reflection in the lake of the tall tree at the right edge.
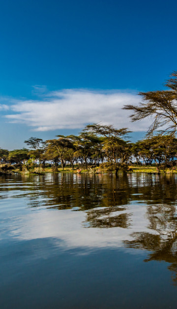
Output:
[[130,248],[151,251],[145,262],[152,260],[171,263],[172,279],[177,285],[177,210],[174,205],[148,206],[147,217],[149,228],[156,231],[150,233],[132,233],[134,240],[124,240]]

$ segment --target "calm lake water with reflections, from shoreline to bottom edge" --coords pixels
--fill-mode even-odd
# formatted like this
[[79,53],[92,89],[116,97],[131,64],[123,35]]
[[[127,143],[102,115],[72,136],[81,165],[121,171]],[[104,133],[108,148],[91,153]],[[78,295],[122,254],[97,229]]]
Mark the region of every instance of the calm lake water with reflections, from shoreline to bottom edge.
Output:
[[177,308],[177,175],[0,177],[0,309]]

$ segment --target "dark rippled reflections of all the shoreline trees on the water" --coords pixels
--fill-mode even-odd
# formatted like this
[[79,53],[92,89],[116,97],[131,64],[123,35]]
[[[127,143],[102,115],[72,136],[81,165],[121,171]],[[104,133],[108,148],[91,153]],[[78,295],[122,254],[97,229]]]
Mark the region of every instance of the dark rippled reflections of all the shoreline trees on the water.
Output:
[[177,175],[61,173],[13,180],[5,186],[1,178],[1,198],[10,191],[12,198],[27,198],[29,207],[85,211],[89,228],[122,228],[123,245],[150,251],[145,262],[170,263],[177,284]]

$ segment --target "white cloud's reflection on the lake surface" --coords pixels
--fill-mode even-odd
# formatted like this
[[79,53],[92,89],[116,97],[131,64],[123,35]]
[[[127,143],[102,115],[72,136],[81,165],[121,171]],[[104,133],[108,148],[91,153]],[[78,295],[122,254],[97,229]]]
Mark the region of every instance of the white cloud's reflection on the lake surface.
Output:
[[[63,248],[88,247],[122,247],[122,241],[133,240],[132,233],[151,233],[149,230],[146,208],[134,204],[133,207],[125,206],[126,213],[130,215],[131,227],[123,229],[115,227],[110,229],[84,228],[87,212],[72,210],[33,212],[16,219],[9,227],[10,235],[19,240],[33,240],[51,238],[55,245],[62,245]],[[118,211],[118,213],[122,213]],[[114,213],[112,214],[115,215]],[[141,220],[139,218],[141,217]],[[108,217],[107,217],[108,218]],[[59,242],[57,241],[59,240]]]

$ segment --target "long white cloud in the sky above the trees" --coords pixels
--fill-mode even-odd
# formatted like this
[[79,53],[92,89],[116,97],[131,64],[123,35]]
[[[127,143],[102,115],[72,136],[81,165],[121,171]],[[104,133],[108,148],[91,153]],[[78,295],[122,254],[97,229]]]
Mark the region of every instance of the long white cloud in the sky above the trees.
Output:
[[140,97],[120,91],[61,90],[43,95],[43,100],[21,100],[11,105],[12,114],[5,117],[13,123],[24,123],[34,131],[82,129],[86,124],[101,122],[132,131],[146,131],[149,123],[132,123],[124,104],[138,104]]

